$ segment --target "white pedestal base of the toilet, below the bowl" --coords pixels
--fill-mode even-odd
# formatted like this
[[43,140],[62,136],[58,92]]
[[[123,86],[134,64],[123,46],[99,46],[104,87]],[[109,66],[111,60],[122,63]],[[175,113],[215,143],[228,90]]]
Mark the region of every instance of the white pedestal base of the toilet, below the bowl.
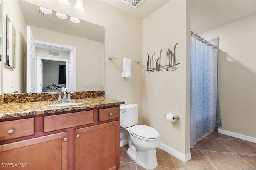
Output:
[[127,154],[142,168],[152,170],[157,167],[156,149],[138,150],[136,152],[128,148]]

